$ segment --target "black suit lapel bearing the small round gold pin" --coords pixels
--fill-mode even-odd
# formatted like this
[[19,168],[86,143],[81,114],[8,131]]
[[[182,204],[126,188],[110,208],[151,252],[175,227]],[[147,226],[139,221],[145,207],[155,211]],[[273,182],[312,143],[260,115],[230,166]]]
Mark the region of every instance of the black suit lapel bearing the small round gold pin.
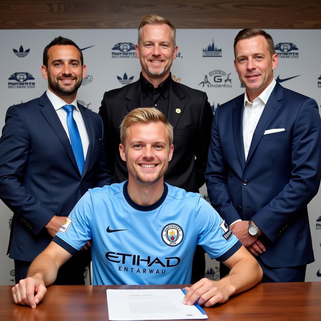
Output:
[[[170,82],[170,94],[168,103],[168,115],[167,119],[171,125],[176,128],[179,118],[181,117],[185,108],[185,103],[182,101],[185,98],[184,92],[181,90],[177,82],[171,80]],[[178,112],[178,109],[180,111]]]

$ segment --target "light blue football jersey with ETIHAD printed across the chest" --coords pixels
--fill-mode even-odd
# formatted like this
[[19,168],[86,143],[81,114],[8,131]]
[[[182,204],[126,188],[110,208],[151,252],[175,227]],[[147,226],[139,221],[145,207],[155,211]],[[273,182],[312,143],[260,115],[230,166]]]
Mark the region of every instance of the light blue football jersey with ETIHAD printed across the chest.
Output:
[[164,183],[161,198],[142,206],[127,186],[90,189],[54,238],[71,254],[92,239],[93,284],[190,283],[196,244],[219,261],[241,247],[200,194]]

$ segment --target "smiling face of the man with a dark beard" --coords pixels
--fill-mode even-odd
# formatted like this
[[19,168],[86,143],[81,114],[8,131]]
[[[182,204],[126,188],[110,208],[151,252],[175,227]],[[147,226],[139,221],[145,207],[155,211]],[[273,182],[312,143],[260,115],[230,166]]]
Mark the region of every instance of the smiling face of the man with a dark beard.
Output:
[[41,66],[41,73],[48,79],[49,90],[63,100],[76,98],[86,66],[81,65],[80,53],[72,45],[55,45],[48,50],[48,67]]

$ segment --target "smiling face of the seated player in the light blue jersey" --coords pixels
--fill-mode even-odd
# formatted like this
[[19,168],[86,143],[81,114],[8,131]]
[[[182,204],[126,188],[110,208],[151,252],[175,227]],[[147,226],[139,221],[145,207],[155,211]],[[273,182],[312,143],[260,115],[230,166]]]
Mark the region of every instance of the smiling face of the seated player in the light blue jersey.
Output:
[[169,146],[168,131],[161,121],[135,123],[127,128],[125,146],[120,144],[119,152],[126,161],[129,180],[150,186],[163,178],[173,145]]

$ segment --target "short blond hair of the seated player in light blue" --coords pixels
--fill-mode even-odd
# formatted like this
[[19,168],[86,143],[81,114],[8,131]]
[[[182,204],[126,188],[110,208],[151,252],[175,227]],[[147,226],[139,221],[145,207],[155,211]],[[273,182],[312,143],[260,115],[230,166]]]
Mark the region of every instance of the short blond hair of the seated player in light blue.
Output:
[[161,121],[168,132],[169,147],[173,143],[173,126],[166,119],[165,115],[154,107],[150,108],[136,108],[129,112],[120,124],[120,142],[125,146],[126,131],[127,128],[132,124],[144,123],[148,124],[151,122]]

